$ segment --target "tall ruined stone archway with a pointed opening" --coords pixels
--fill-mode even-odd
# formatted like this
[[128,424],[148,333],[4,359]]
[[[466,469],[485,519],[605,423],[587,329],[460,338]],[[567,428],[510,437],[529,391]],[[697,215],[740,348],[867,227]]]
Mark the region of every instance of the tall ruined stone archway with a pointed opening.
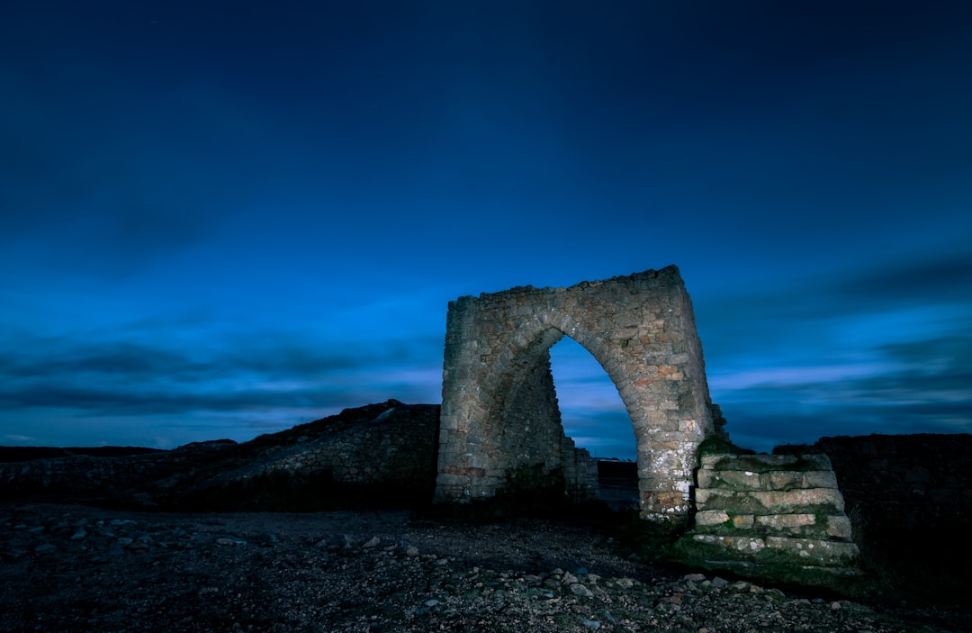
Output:
[[642,517],[684,516],[712,416],[691,299],[675,266],[450,302],[435,500],[493,497],[523,469],[556,471],[579,497],[596,485],[593,462],[560,423],[549,350],[564,335],[608,372],[627,408]]

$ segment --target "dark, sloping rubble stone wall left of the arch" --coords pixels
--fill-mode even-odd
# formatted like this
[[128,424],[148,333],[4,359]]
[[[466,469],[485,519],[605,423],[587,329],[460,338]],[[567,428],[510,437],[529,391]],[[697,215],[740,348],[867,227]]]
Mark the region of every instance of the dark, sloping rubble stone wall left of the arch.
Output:
[[423,505],[434,491],[438,417],[437,404],[393,400],[239,444],[9,462],[0,499],[168,510]]

